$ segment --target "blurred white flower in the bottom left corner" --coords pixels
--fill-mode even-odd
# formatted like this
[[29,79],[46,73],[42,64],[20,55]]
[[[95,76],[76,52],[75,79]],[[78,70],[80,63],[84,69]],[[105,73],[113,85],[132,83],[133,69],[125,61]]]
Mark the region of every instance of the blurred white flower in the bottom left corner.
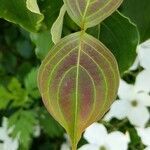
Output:
[[19,143],[17,139],[9,137],[12,129],[7,128],[7,118],[3,118],[2,127],[0,127],[0,150],[17,150]]

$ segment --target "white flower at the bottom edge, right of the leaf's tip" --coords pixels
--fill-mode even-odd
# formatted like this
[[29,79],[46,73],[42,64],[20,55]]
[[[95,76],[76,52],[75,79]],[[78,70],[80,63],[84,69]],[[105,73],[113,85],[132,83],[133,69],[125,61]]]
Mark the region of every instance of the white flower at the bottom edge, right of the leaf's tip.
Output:
[[104,125],[94,123],[84,133],[89,144],[83,145],[79,150],[127,150],[129,137],[122,132],[107,133]]

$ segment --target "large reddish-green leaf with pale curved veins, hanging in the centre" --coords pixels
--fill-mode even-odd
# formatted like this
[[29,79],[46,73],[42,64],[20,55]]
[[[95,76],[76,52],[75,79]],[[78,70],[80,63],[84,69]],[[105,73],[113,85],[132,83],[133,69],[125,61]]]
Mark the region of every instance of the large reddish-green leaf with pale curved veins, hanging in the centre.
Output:
[[118,84],[114,56],[84,31],[56,44],[43,60],[38,75],[43,102],[66,129],[73,148],[85,128],[108,111]]

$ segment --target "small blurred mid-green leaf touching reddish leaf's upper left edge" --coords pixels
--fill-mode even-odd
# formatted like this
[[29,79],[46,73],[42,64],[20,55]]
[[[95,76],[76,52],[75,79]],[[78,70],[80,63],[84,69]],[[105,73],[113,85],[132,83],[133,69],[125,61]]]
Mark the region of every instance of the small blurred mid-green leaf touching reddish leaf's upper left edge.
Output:
[[46,54],[54,45],[51,34],[49,31],[44,31],[40,33],[31,33],[30,37],[32,42],[36,45],[36,56],[41,60],[44,59]]

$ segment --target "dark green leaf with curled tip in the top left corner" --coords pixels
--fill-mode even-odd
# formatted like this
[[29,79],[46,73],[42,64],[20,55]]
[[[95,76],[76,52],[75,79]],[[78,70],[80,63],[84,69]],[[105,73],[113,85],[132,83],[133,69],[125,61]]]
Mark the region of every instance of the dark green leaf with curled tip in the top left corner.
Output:
[[44,16],[28,10],[26,0],[0,0],[0,4],[0,18],[19,24],[30,32],[39,30]]

